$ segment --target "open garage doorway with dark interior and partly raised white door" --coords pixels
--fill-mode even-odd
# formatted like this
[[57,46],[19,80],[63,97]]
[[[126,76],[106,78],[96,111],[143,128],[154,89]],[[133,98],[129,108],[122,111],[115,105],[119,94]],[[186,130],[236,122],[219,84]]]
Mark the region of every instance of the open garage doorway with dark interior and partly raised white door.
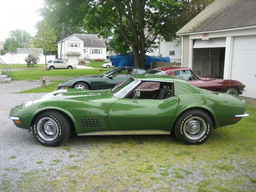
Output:
[[225,38],[194,40],[192,69],[199,76],[223,79]]

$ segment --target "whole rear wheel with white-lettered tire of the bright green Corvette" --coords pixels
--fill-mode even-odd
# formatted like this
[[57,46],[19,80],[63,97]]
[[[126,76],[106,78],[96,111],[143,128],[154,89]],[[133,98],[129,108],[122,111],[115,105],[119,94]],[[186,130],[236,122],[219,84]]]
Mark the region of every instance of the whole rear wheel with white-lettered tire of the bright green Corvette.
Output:
[[211,135],[213,121],[204,111],[191,109],[178,117],[174,133],[184,144],[203,144]]

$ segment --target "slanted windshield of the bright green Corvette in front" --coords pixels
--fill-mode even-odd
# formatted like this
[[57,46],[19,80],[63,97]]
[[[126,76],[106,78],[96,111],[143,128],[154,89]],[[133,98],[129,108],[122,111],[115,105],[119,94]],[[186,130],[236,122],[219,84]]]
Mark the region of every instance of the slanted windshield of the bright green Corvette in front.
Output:
[[123,81],[123,83],[116,86],[115,88],[113,88],[111,92],[113,96],[121,99],[137,83],[138,83],[138,80],[134,80],[133,78],[130,78],[128,80]]

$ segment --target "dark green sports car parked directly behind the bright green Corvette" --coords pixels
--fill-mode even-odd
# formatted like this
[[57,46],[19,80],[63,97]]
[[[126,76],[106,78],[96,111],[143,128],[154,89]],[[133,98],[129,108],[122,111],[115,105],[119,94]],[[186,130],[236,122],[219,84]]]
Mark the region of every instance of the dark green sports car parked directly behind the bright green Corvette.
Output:
[[132,75],[139,75],[145,72],[146,70],[135,67],[116,67],[100,75],[87,75],[70,79],[59,84],[57,90],[67,88],[84,90],[111,89],[117,83],[127,80]]

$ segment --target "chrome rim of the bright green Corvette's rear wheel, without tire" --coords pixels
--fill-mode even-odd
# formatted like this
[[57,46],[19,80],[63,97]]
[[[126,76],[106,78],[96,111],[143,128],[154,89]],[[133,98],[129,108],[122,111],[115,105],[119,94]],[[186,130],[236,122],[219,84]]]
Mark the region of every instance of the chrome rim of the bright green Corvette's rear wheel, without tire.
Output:
[[191,117],[183,125],[183,132],[188,139],[201,139],[206,133],[207,126],[201,117]]

